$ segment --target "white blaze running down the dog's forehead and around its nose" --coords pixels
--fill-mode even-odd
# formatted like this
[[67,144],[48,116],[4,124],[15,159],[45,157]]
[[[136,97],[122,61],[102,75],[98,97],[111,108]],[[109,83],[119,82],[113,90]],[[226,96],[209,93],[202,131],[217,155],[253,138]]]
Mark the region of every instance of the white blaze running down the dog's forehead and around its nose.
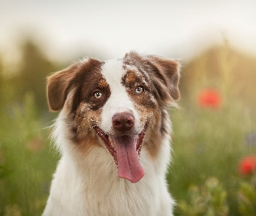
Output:
[[112,117],[115,113],[128,111],[135,117],[135,129],[141,130],[140,118],[135,111],[131,98],[128,97],[125,86],[121,84],[125,74],[122,60],[108,60],[102,66],[102,75],[108,82],[110,97],[102,107],[102,130],[109,132],[112,128]]

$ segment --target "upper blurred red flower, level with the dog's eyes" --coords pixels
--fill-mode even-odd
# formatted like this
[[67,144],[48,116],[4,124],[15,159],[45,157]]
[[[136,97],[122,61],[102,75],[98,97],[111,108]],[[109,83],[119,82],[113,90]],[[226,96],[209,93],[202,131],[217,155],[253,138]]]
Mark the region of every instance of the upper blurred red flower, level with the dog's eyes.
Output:
[[220,93],[213,89],[206,89],[200,92],[198,96],[198,104],[203,108],[220,108],[221,97]]

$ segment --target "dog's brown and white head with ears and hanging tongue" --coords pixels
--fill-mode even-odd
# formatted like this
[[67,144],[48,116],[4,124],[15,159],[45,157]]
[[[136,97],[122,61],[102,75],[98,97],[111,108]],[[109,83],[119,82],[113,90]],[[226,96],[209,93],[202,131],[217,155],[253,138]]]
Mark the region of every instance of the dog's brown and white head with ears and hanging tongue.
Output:
[[121,60],[82,60],[49,76],[49,108],[67,113],[69,138],[84,154],[95,145],[107,148],[118,175],[136,182],[144,175],[142,145],[154,159],[155,140],[167,132],[165,108],[179,98],[178,67],[134,52]]

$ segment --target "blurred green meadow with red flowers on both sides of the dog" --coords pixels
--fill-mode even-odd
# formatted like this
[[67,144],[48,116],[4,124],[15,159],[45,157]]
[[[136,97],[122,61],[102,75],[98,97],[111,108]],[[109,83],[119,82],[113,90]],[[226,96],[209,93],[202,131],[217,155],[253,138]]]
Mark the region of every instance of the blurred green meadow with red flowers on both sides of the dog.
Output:
[[[37,58],[29,48],[24,54]],[[42,77],[57,68],[45,62]],[[223,45],[183,64],[180,109],[170,109],[167,181],[175,215],[256,215],[254,62]],[[38,101],[44,83],[19,94],[17,80],[0,79],[0,215],[41,215],[59,158],[49,139],[56,114],[49,114],[44,96]]]

